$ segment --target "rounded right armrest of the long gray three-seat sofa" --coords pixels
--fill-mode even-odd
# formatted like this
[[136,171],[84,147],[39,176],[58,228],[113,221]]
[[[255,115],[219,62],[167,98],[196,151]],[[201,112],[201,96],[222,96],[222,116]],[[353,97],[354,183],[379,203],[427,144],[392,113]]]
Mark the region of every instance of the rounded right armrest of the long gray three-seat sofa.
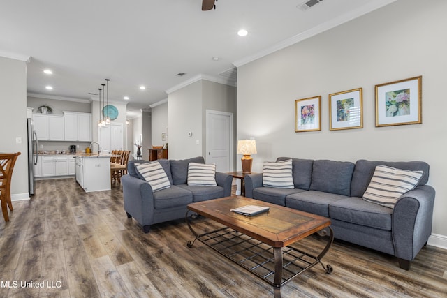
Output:
[[412,261],[432,234],[435,191],[418,186],[397,200],[393,209],[395,256]]

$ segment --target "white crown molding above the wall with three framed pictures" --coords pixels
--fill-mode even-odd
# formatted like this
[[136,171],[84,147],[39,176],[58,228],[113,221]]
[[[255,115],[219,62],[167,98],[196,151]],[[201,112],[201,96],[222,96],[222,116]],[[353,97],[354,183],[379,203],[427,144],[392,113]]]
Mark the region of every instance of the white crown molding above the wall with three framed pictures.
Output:
[[362,15],[366,15],[367,13],[372,12],[373,10],[379,9],[383,6],[386,6],[390,3],[393,3],[397,0],[376,0],[371,1],[365,6],[362,6],[356,10],[352,10],[349,13],[345,13],[344,15],[340,15],[339,17],[336,17],[333,20],[329,20],[328,22],[324,22],[323,24],[320,24],[317,27],[314,27],[312,29],[309,29],[307,31],[304,31],[300,34],[297,34],[295,36],[292,36],[291,38],[287,38],[286,40],[281,41],[280,43],[277,43],[276,45],[273,45],[272,47],[268,47],[265,50],[262,50],[260,52],[257,52],[249,57],[245,57],[243,59],[237,60],[233,62],[234,66],[240,67],[244,64],[248,64],[251,61],[254,61],[256,59],[260,59],[262,57],[267,56],[268,54],[272,54],[274,52],[277,52],[279,50],[282,50],[286,47],[289,47],[291,45],[294,45],[295,43],[299,43],[302,40],[305,40],[307,38],[311,38],[312,36],[316,36],[319,33],[323,33],[324,31],[328,31],[329,29],[335,28],[341,24],[344,24],[346,22],[349,22],[351,20],[356,19],[357,17],[360,17]]

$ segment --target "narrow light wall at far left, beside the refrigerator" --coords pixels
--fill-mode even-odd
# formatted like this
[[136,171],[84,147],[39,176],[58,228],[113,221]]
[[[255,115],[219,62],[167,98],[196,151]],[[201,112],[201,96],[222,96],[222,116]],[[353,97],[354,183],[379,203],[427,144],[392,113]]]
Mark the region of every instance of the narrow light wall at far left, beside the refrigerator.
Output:
[[[27,64],[0,57],[0,152],[21,152],[11,180],[11,199],[29,198],[27,147]],[[22,144],[16,144],[16,138]]]

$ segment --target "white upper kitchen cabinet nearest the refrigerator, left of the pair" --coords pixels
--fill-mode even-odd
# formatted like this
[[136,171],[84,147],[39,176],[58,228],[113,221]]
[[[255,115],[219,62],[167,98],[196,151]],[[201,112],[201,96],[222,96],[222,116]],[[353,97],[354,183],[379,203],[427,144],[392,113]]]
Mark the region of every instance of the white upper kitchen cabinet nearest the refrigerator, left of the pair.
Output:
[[37,140],[64,141],[64,116],[34,114],[34,129]]

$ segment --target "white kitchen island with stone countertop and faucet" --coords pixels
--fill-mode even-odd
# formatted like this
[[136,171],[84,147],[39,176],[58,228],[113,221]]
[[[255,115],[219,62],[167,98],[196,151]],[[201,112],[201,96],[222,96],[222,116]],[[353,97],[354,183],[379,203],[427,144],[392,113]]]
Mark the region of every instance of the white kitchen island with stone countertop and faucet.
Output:
[[86,193],[110,191],[112,154],[76,154],[76,181]]

